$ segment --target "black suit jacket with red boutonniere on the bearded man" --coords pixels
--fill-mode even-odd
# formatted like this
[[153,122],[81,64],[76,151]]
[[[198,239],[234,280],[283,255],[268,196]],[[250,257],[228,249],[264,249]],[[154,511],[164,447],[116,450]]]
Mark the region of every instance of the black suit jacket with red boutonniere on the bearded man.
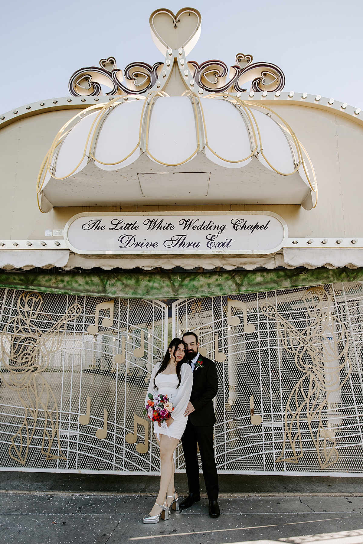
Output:
[[214,361],[201,355],[199,358],[203,361],[203,367],[195,367],[193,370],[190,402],[195,411],[189,415],[189,421],[197,427],[202,427],[216,423],[213,399],[218,392],[218,375]]

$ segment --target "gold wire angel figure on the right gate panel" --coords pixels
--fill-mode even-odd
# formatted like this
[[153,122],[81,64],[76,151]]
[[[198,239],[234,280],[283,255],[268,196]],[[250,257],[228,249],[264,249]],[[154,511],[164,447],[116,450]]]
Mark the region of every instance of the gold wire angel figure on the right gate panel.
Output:
[[307,289],[302,300],[308,323],[303,330],[288,322],[275,305],[269,302],[261,305],[268,319],[276,322],[284,349],[294,356],[296,367],[303,374],[286,403],[282,452],[276,462],[299,462],[304,455],[302,432],[306,429],[316,448],[319,465],[325,469],[339,459],[336,432],[342,415],[336,408],[341,388],[352,370],[348,334],[330,294],[323,288]]

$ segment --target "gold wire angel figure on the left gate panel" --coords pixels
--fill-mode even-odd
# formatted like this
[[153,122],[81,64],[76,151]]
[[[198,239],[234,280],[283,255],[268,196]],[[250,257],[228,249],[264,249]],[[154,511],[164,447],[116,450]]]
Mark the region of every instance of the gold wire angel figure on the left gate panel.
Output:
[[[1,335],[2,364],[10,373],[9,382],[4,380],[4,384],[17,395],[24,409],[23,422],[11,437],[9,455],[22,465],[37,425],[42,426],[40,450],[46,459],[66,459],[60,448],[57,399],[42,371],[48,367],[50,355],[60,349],[67,323],[75,320],[82,308],[73,304],[44,332],[36,326],[44,323],[46,316],[40,312],[42,302],[39,293],[23,293],[17,301],[18,315],[9,320]],[[58,444],[52,453],[54,440]]]

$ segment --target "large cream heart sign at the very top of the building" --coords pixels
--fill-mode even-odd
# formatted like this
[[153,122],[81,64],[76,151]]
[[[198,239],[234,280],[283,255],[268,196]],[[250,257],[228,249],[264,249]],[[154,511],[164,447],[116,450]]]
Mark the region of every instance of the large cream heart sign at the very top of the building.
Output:
[[167,50],[184,49],[186,55],[192,51],[200,36],[201,15],[194,8],[182,8],[174,15],[169,9],[157,9],[150,15],[153,42],[161,53]]

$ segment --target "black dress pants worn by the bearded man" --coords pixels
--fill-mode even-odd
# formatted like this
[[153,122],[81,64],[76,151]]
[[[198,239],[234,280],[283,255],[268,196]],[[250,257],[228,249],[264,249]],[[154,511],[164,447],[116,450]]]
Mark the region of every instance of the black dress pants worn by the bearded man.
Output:
[[209,500],[218,499],[218,474],[213,448],[213,425],[197,427],[188,420],[181,438],[186,462],[189,493],[200,493],[197,443]]

